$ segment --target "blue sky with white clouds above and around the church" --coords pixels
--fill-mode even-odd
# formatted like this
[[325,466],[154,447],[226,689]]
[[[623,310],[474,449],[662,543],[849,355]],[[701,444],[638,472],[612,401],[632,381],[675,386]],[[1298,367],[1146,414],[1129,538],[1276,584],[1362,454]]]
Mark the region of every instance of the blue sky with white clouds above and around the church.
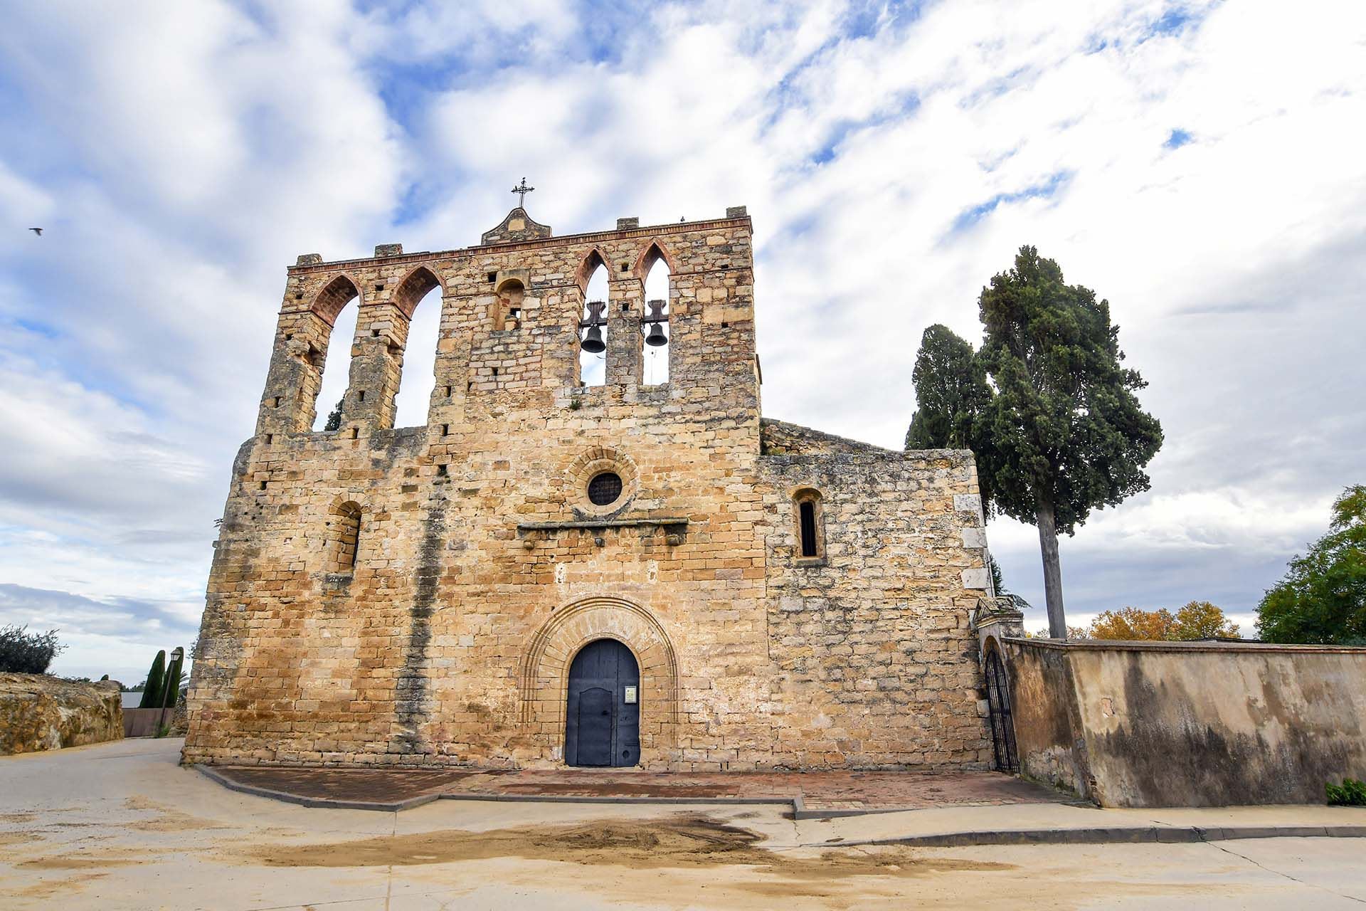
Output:
[[[5,8],[0,623],[57,672],[193,642],[295,255],[474,243],[523,175],[560,234],[747,205],[765,412],[887,447],[1022,243],[1108,298],[1167,444],[1063,541],[1074,623],[1250,632],[1366,481],[1366,4]],[[1041,605],[1033,527],[990,539]]]

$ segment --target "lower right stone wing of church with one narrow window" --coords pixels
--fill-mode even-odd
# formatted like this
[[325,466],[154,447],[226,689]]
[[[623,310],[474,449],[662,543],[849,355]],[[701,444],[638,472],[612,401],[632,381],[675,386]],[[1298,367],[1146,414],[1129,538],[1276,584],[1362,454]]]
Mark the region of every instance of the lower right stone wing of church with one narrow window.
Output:
[[[973,455],[776,421],[764,443],[777,753],[803,768],[988,768],[968,626],[985,544]],[[798,548],[800,490],[820,494],[816,560]]]

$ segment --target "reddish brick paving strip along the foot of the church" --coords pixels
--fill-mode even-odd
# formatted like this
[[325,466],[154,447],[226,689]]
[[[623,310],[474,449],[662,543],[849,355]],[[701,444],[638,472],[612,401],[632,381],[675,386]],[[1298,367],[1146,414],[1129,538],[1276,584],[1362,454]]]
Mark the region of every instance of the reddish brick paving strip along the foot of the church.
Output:
[[391,770],[216,766],[239,784],[301,798],[399,803],[438,792],[474,798],[791,800],[807,811],[887,811],[1057,803],[1056,792],[996,772]]

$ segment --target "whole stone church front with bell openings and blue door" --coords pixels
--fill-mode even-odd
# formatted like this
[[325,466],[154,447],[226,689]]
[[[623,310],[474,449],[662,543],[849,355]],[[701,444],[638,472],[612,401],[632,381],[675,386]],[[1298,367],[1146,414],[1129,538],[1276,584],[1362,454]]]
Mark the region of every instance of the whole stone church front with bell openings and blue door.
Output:
[[[428,422],[395,429],[434,288]],[[348,305],[342,425],[313,432]],[[988,768],[971,453],[770,421],[759,384],[744,208],[560,238],[516,208],[473,247],[299,257],[232,466],[184,759]]]

